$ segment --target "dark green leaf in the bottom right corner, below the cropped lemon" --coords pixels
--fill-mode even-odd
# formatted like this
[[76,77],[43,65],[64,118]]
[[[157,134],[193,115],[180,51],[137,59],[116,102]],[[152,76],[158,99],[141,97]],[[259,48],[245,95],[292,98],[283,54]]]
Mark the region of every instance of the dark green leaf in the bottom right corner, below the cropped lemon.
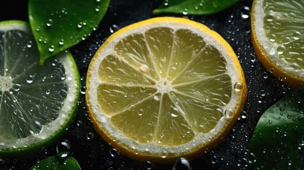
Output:
[[268,108],[249,145],[248,169],[304,167],[304,88]]

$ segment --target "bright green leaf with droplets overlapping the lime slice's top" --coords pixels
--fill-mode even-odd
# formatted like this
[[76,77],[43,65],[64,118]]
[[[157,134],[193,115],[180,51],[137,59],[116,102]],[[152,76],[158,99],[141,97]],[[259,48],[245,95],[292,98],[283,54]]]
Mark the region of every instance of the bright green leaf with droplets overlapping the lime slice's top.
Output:
[[84,40],[105,15],[110,0],[29,0],[28,13],[40,63]]

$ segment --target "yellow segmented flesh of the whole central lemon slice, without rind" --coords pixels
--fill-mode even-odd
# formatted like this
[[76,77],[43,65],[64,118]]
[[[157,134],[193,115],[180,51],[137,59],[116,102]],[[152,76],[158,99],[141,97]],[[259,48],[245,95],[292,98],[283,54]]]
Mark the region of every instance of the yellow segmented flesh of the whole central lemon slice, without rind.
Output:
[[208,133],[232,93],[224,57],[187,29],[125,37],[98,74],[98,103],[117,129],[141,143],[180,145]]

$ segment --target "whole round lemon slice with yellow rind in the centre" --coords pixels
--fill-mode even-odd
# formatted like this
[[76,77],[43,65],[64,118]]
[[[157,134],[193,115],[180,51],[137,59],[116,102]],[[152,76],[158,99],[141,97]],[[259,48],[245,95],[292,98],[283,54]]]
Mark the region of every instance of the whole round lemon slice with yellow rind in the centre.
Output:
[[96,131],[142,161],[172,162],[218,145],[246,97],[229,44],[184,18],[148,19],[113,33],[87,74],[86,103]]

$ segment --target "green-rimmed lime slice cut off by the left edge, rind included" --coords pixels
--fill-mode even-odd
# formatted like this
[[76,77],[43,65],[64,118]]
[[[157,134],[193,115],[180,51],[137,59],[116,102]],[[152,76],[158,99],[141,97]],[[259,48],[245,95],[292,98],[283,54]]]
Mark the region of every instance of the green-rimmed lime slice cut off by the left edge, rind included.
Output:
[[29,24],[0,22],[0,155],[46,147],[75,117],[80,76],[70,53],[39,65]]

